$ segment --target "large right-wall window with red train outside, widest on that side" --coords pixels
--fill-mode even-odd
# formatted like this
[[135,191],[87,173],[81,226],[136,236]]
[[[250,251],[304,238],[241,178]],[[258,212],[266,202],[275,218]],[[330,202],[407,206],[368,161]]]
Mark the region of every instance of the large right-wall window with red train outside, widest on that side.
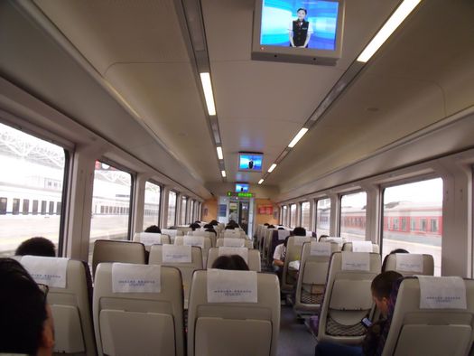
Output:
[[383,214],[384,219],[409,220],[410,229],[384,229],[382,257],[385,258],[395,248],[430,254],[434,258],[434,275],[441,276],[441,178],[387,187],[384,190]]

